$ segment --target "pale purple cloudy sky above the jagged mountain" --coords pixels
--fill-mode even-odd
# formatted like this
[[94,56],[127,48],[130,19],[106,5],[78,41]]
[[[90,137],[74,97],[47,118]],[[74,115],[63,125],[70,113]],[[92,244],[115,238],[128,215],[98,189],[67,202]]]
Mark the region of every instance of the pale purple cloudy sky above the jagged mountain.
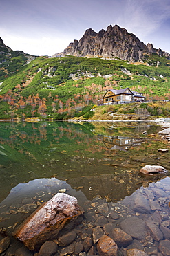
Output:
[[170,53],[170,0],[0,0],[0,37],[31,55],[63,51],[87,28],[117,24]]

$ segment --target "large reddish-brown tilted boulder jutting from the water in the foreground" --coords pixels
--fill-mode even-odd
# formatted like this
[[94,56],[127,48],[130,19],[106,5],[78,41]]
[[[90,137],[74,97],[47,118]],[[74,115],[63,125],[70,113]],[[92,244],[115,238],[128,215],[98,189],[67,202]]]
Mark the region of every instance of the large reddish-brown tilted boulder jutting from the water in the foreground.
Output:
[[82,213],[74,196],[58,193],[25,220],[14,232],[14,237],[30,250],[39,249],[45,241],[56,239],[60,230]]

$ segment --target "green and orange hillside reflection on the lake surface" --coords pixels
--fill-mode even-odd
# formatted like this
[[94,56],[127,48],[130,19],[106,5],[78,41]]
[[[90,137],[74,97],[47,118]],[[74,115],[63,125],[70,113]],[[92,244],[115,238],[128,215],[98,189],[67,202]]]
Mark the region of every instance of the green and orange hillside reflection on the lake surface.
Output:
[[[157,152],[164,143],[156,135],[159,127],[146,123],[1,122],[0,131],[0,201],[18,183],[51,177],[83,187],[89,199],[100,190],[120,200],[145,182],[139,183],[143,165],[164,165],[169,157]],[[117,191],[125,185],[126,192],[105,191],[103,183],[110,181]]]

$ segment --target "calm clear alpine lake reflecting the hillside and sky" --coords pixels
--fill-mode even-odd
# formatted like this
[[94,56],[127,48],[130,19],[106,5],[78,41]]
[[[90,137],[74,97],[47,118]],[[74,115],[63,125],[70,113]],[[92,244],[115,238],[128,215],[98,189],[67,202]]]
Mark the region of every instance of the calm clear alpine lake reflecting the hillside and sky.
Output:
[[[170,144],[161,130],[155,122],[0,122],[0,231],[10,237],[1,255],[23,246],[12,232],[59,190],[84,209],[84,235],[92,237],[98,226],[107,235],[109,225],[136,226],[129,248],[169,253],[161,243],[170,239],[170,150],[158,149]],[[168,172],[146,176],[140,173],[145,165]]]

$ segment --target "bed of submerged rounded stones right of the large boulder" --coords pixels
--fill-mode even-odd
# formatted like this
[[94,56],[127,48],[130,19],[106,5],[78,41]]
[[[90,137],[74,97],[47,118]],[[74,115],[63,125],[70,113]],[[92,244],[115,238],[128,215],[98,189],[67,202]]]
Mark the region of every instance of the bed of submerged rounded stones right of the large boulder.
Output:
[[[8,248],[1,240],[1,255],[170,255],[170,188],[167,177],[148,188],[141,187],[118,203],[96,196],[83,203],[84,214],[59,232],[56,239],[37,251],[25,246]],[[26,207],[25,207],[26,209]],[[24,210],[23,210],[24,214]]]

